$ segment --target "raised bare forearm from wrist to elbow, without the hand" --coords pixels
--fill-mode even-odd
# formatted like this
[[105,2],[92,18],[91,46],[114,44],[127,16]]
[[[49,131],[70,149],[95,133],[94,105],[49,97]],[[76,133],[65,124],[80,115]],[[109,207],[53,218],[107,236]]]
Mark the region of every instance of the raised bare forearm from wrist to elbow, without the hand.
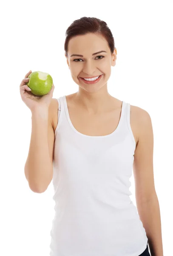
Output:
[[52,125],[52,104],[49,108],[32,111],[32,131],[25,176],[33,192],[42,193],[53,177],[54,129]]

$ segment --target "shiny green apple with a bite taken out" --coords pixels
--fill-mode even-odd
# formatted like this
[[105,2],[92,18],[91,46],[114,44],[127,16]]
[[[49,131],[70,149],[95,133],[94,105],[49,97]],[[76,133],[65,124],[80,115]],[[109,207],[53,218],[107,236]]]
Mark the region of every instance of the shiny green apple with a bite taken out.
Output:
[[29,76],[29,81],[26,83],[31,89],[31,93],[37,96],[43,96],[51,90],[53,79],[48,73],[41,71],[32,72]]

